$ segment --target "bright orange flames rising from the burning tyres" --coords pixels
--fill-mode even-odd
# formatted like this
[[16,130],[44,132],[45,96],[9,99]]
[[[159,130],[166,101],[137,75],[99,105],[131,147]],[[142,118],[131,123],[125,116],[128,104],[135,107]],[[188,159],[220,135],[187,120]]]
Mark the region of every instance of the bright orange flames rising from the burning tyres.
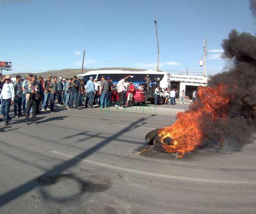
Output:
[[[226,93],[227,89],[224,85],[219,85],[218,88],[198,87],[200,102],[196,100],[190,110],[179,112],[176,115],[177,121],[172,126],[164,127],[158,132],[166,152],[178,153],[178,157],[183,157],[185,153],[202,145],[202,127],[205,126],[205,121],[226,118],[225,106],[232,97]],[[234,89],[236,88],[233,87]],[[164,142],[165,138],[171,138],[171,143]]]

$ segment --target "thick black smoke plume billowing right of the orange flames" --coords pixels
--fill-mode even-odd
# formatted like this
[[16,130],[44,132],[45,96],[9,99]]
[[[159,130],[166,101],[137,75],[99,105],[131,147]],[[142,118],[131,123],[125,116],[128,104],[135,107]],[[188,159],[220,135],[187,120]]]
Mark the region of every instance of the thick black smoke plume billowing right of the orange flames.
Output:
[[256,131],[256,37],[233,29],[222,47],[223,57],[231,59],[233,65],[228,72],[213,76],[207,87],[226,86],[222,97],[229,102],[221,111],[227,118],[206,122],[203,142],[212,146],[218,144],[216,139],[222,139],[221,147],[239,150],[251,142],[252,133]]

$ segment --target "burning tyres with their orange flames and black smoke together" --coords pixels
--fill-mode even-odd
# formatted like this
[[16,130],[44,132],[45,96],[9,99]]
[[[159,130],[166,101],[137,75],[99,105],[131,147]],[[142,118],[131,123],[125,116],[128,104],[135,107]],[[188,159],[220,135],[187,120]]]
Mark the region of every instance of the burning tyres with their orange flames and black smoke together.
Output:
[[146,142],[177,157],[202,145],[237,151],[251,143],[256,127],[255,44],[255,36],[232,30],[222,42],[222,57],[233,62],[229,71],[213,76],[207,87],[199,86],[189,110],[179,112],[172,126],[148,133]]

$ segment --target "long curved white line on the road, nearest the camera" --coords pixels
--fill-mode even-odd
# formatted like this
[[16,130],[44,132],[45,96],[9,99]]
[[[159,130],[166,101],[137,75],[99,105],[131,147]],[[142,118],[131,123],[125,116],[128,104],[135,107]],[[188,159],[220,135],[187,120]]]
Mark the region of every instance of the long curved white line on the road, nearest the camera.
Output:
[[59,151],[52,150],[52,153],[64,156],[64,157],[69,157],[69,158],[74,158],[76,160],[81,160],[85,163],[89,164],[95,164],[98,166],[104,166],[108,167],[111,169],[116,169],[116,170],[122,170],[125,172],[132,172],[136,174],[141,174],[141,175],[148,175],[148,176],[155,176],[155,177],[161,177],[161,178],[169,178],[169,179],[176,179],[176,180],[188,180],[188,181],[197,181],[197,182],[207,182],[207,183],[221,183],[221,184],[256,184],[255,180],[219,180],[219,179],[205,179],[205,178],[190,178],[190,177],[184,177],[184,176],[176,176],[176,175],[166,175],[166,174],[160,174],[160,173],[154,173],[154,172],[146,172],[146,171],[141,171],[141,170],[136,170],[136,169],[128,169],[125,167],[120,167],[120,166],[115,166],[115,165],[110,165],[110,164],[105,164],[105,163],[100,163],[96,161],[91,161],[88,159],[82,159],[78,158],[72,155],[68,155]]

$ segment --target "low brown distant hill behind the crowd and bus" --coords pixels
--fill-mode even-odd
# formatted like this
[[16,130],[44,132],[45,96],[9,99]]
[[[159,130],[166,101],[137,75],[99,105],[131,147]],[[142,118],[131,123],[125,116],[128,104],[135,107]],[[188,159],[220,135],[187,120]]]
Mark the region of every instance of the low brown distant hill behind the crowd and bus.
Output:
[[[95,70],[123,70],[123,71],[146,71],[145,69],[138,69],[138,68],[97,68],[97,69],[83,69],[83,73],[86,73],[88,71],[95,71]],[[33,72],[32,72],[33,73]],[[52,76],[56,76],[59,78],[60,76],[65,78],[73,77],[77,74],[82,73],[82,69],[62,69],[58,71],[47,71],[44,73],[35,73],[37,77],[42,76],[46,79],[47,75],[51,74]],[[11,77],[16,77],[16,75],[20,75],[22,77],[25,77],[28,75],[28,73],[12,73],[10,74]]]

